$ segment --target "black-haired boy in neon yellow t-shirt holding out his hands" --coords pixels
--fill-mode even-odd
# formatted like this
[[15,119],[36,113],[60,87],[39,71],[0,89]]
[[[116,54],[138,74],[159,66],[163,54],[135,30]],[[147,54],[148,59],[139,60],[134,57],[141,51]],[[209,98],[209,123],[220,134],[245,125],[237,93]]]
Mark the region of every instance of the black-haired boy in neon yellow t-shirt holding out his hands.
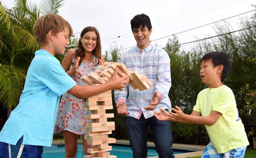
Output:
[[231,62],[223,52],[210,52],[201,59],[200,76],[209,86],[199,92],[196,105],[190,115],[186,115],[175,106],[175,113],[155,112],[158,120],[171,120],[188,124],[202,124],[211,139],[202,157],[243,158],[249,145],[244,125],[238,116],[235,96],[228,86],[223,84],[231,70]]

